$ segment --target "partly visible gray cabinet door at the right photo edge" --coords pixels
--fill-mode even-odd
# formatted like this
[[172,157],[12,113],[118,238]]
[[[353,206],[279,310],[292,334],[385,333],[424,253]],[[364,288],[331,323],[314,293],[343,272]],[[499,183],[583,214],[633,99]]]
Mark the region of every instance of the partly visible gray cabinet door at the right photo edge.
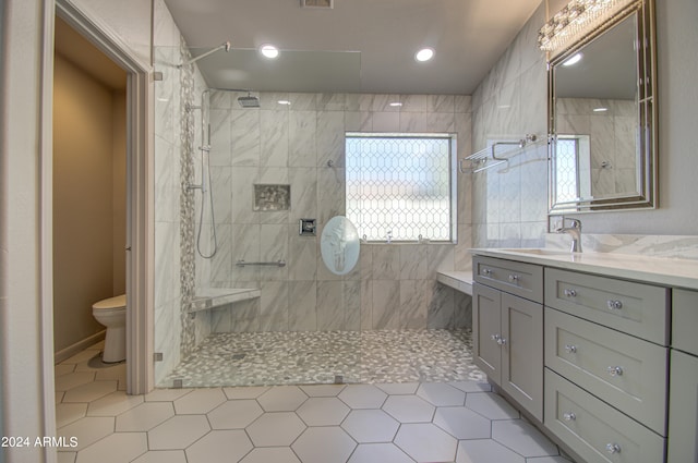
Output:
[[698,357],[672,350],[669,463],[698,463]]

